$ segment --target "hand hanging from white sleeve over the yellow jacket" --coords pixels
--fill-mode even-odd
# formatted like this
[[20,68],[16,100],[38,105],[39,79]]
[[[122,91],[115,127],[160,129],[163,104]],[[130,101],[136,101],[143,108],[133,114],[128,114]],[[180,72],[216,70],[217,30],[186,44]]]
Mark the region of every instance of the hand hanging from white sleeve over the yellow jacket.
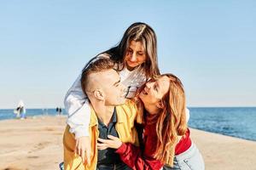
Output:
[[87,164],[90,166],[90,137],[89,136],[82,136],[79,139],[76,139],[75,153],[82,157],[83,162],[85,162],[85,159],[86,159]]

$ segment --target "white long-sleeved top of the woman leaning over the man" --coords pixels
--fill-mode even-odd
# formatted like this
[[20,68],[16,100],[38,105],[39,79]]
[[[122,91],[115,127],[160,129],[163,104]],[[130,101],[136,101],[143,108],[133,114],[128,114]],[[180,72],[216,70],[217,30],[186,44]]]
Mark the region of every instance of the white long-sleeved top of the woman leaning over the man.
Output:
[[[97,56],[97,58],[99,57],[102,57],[102,54]],[[95,60],[93,59],[91,62]],[[124,68],[119,71],[119,76],[121,82],[126,87],[130,87],[129,98],[132,98],[137,88],[140,88],[146,82],[146,76],[141,67],[137,67],[133,71]],[[70,126],[70,133],[74,133],[76,139],[82,136],[89,136],[88,128],[90,123],[90,104],[87,96],[83,93],[80,79],[81,75],[73,82],[64,99],[65,109],[68,114],[67,124]]]

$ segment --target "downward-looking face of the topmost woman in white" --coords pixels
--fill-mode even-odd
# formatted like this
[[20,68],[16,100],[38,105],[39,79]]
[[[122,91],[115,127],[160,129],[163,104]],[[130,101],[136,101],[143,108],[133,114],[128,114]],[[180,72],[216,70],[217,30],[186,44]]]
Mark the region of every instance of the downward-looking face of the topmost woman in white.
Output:
[[126,50],[125,62],[128,70],[133,70],[146,61],[147,55],[142,42],[131,41]]

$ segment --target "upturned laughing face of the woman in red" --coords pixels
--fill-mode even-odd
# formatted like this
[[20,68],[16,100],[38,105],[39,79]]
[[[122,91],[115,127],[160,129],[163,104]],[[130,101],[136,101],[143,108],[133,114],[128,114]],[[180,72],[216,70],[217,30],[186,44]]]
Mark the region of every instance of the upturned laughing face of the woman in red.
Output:
[[139,94],[145,107],[148,105],[159,106],[161,99],[168,93],[170,80],[168,77],[160,77],[155,81],[149,81],[145,84],[143,91]]

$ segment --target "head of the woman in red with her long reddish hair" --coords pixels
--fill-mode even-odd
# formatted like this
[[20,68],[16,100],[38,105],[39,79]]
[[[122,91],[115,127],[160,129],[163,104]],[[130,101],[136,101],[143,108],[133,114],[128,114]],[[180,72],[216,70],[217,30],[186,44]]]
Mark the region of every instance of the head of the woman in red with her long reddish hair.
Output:
[[[165,74],[145,84],[143,91],[139,94],[147,111],[146,122],[157,123],[155,158],[173,164],[175,147],[178,136],[183,136],[187,131],[186,103],[182,82],[172,74]],[[161,105],[160,105],[161,103]],[[152,116],[153,115],[153,116]],[[152,117],[150,117],[152,116]],[[148,118],[148,119],[147,119]],[[170,138],[172,136],[172,138]],[[164,152],[162,146],[165,146]],[[172,159],[166,151],[172,151]]]

